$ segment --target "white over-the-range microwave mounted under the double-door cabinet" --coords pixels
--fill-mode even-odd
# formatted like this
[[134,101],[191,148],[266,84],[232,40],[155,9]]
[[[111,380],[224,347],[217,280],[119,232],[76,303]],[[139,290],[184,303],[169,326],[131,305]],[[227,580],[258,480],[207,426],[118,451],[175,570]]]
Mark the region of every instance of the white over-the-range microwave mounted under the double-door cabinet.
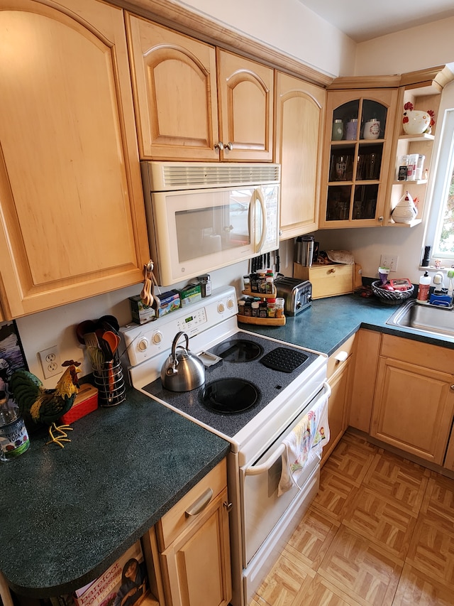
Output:
[[140,165],[150,251],[162,286],[279,247],[279,164]]

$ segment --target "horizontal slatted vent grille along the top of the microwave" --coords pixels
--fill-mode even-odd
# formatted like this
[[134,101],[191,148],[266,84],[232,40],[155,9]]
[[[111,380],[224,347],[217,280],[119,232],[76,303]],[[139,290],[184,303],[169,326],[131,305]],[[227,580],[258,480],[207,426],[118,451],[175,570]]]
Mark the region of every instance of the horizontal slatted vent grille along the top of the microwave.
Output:
[[155,191],[260,185],[279,183],[280,180],[279,164],[156,163],[156,165],[152,166],[151,170]]

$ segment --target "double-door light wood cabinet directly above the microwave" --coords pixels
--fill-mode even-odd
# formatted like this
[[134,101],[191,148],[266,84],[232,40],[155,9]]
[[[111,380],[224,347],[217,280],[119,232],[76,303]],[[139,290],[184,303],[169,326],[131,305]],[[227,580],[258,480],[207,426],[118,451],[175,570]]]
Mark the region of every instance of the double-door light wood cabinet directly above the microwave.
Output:
[[140,157],[272,161],[273,70],[126,15]]

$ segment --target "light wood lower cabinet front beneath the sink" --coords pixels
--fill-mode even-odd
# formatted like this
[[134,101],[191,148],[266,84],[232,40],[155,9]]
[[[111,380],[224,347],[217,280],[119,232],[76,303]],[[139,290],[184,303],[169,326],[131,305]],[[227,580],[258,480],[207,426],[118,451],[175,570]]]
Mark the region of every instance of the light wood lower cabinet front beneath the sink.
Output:
[[383,335],[370,435],[443,465],[454,414],[454,351]]

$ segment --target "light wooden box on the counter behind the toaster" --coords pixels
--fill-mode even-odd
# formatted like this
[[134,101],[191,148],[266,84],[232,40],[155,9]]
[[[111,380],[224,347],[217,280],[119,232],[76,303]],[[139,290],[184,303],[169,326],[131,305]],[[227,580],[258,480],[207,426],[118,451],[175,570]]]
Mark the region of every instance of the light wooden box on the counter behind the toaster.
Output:
[[309,280],[312,284],[312,298],[333,297],[353,292],[354,265],[341,263],[315,264],[306,267],[293,264],[293,277]]

